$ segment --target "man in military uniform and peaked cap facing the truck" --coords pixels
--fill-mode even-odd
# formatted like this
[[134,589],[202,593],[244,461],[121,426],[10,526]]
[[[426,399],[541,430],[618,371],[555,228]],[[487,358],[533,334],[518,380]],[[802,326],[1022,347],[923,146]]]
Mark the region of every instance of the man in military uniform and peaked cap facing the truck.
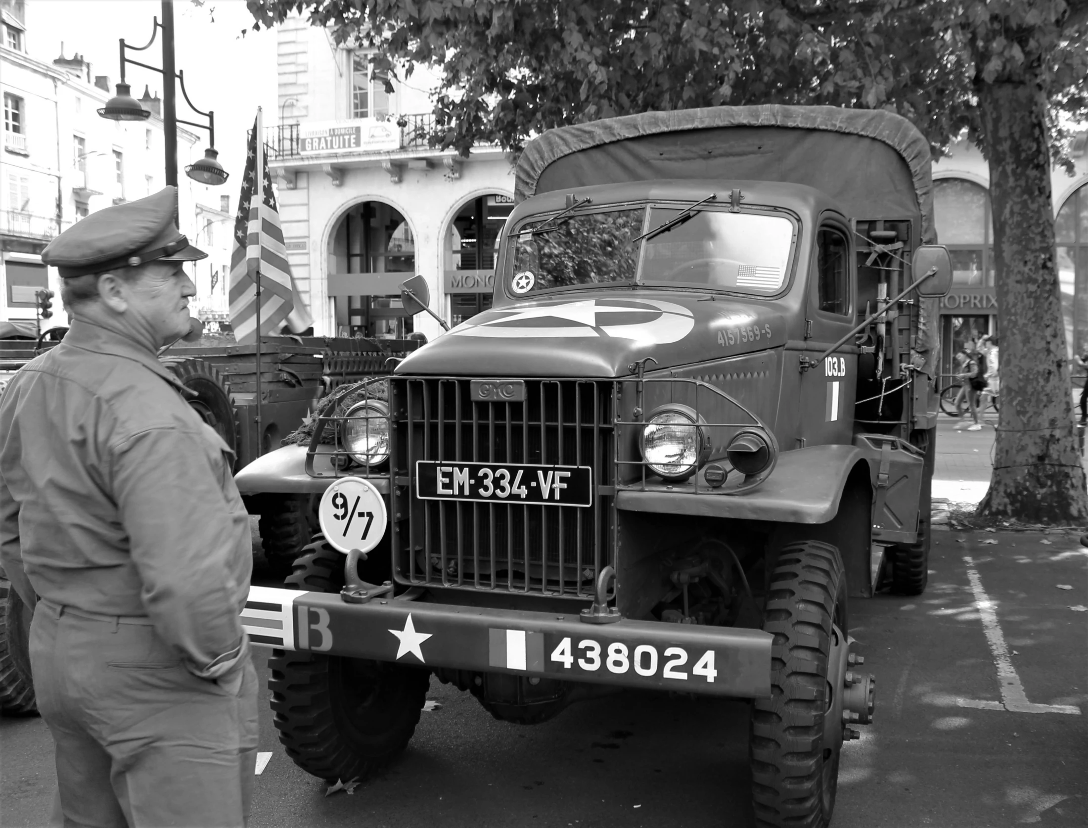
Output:
[[37,606],[30,666],[55,742],[53,819],[242,826],[257,677],[239,613],[249,519],[230,449],[158,351],[190,331],[175,189],[62,233],[73,318],[0,404],[0,558]]

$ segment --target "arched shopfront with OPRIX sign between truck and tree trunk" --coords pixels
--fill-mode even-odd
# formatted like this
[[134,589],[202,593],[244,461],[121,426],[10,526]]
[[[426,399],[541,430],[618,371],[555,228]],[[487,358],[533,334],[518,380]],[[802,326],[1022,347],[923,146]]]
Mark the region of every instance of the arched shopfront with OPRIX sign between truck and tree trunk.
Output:
[[966,178],[934,182],[937,238],[952,257],[952,293],[941,301],[941,373],[950,382],[955,355],[982,334],[997,333],[993,301],[993,220],[990,194]]

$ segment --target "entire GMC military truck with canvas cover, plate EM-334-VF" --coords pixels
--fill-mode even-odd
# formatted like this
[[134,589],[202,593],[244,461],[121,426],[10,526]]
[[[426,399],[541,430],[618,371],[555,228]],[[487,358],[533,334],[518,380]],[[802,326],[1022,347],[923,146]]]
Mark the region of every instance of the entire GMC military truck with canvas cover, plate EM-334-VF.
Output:
[[293,589],[244,614],[295,762],[363,777],[431,672],[524,724],[616,688],[745,699],[757,823],[827,825],[874,715],[849,602],[926,585],[929,164],[905,120],[832,108],[533,140],[494,307],[238,475],[323,492]]

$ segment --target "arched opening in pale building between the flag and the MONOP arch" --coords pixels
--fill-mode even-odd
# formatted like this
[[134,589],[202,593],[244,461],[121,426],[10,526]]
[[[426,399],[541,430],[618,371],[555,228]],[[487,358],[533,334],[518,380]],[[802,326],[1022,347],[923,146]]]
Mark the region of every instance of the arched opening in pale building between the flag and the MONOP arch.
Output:
[[415,271],[416,239],[407,219],[383,201],[350,207],[329,239],[336,333],[379,339],[403,339],[411,333],[400,283]]

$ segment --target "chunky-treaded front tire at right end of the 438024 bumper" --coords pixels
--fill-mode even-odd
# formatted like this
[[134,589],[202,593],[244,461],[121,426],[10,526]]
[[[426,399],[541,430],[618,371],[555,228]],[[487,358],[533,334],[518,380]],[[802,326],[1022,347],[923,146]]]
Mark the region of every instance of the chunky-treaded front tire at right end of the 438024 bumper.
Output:
[[763,629],[775,641],[772,695],[752,709],[756,825],[824,828],[838,788],[849,629],[846,578],[834,546],[801,541],[782,549]]

